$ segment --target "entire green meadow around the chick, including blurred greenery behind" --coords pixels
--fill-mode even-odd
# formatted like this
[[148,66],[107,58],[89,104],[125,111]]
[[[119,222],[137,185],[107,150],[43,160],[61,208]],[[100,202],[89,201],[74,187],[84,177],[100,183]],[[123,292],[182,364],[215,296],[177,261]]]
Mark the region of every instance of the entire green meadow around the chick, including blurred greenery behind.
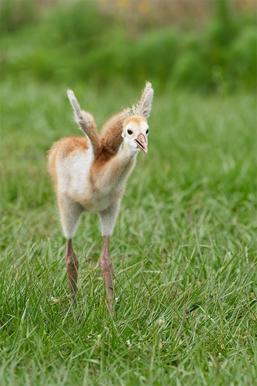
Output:
[[[193,29],[43,3],[0,4],[0,386],[256,385],[256,14],[198,2],[216,10]],[[68,87],[100,129],[146,80],[149,152],[111,238],[112,317],[97,214],[73,239],[72,306],[47,151],[83,135]]]

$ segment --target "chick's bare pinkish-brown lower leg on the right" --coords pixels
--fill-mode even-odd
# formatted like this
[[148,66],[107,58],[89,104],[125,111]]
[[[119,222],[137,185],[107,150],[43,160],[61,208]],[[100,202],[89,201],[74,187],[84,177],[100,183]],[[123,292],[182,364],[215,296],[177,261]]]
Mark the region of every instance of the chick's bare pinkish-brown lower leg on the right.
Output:
[[107,292],[108,305],[110,310],[112,310],[112,304],[113,304],[112,276],[114,276],[114,271],[113,271],[112,262],[110,259],[110,236],[103,235],[102,250],[99,257],[99,266],[101,267],[101,273],[102,273],[103,281]]

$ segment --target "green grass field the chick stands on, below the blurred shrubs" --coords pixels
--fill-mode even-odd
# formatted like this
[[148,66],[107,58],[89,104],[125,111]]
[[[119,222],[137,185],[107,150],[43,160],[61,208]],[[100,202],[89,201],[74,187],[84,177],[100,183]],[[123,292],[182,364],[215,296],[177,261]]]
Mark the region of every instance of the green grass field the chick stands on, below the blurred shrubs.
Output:
[[[141,90],[74,91],[100,127]],[[65,85],[2,83],[1,386],[256,384],[256,98],[170,89],[149,126],[111,240],[116,315],[95,214],[73,242],[73,309],[46,154],[82,133]]]

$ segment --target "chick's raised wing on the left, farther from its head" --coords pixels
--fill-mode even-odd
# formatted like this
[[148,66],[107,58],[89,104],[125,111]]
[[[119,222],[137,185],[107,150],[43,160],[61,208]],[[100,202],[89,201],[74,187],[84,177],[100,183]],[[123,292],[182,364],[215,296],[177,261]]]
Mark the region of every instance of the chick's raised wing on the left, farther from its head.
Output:
[[79,124],[80,130],[88,136],[92,143],[94,153],[97,154],[100,149],[100,139],[94,117],[90,113],[80,109],[79,102],[72,90],[67,90],[67,97],[74,111],[75,122]]

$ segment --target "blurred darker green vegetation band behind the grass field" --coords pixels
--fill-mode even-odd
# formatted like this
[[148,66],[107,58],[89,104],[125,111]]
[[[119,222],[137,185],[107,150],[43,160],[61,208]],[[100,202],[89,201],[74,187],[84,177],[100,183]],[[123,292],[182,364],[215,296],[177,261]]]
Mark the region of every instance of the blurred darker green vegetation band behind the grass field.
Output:
[[1,79],[256,89],[255,0],[1,0]]

